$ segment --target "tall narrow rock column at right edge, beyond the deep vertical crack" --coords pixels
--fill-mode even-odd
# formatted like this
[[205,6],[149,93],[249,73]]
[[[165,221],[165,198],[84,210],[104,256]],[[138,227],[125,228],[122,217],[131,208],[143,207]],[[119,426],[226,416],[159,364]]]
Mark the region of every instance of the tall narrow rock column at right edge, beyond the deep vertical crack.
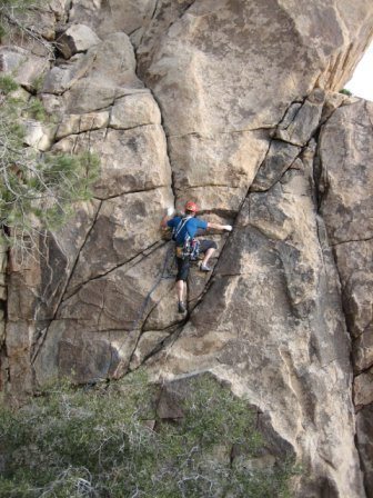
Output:
[[320,212],[341,276],[356,372],[373,365],[372,102],[337,109],[320,137]]

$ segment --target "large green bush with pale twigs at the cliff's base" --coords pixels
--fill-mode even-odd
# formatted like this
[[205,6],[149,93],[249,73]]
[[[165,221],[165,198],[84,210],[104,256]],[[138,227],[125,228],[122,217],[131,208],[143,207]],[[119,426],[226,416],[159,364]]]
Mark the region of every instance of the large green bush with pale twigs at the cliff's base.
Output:
[[0,406],[0,497],[290,496],[292,462],[231,464],[233,445],[245,461],[264,445],[245,401],[195,379],[183,418],[165,422],[155,416],[159,390],[137,374],[89,390],[50,386],[19,410]]

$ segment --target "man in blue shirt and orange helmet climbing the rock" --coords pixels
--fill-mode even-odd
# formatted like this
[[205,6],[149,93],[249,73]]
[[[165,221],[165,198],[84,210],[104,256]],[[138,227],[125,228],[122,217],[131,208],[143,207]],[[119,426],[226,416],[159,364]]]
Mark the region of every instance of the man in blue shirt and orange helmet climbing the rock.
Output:
[[178,265],[177,275],[177,293],[179,300],[179,312],[186,311],[184,303],[184,291],[186,288],[186,279],[189,275],[190,261],[198,258],[199,253],[203,253],[204,258],[200,263],[201,271],[211,271],[209,260],[218,248],[212,240],[198,240],[195,235],[198,230],[206,230],[214,228],[216,230],[232,231],[230,225],[210,223],[196,218],[198,207],[194,202],[185,203],[185,215],[174,216],[173,208],[169,208],[167,215],[162,218],[161,227],[172,228],[172,239],[175,241],[175,257]]

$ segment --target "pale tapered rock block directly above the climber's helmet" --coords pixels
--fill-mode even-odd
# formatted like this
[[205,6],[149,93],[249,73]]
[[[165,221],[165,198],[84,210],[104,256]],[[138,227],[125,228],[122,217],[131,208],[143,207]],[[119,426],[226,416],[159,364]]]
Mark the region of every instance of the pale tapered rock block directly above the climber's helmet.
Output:
[[265,132],[169,137],[178,206],[192,198],[202,211],[238,211],[268,151]]

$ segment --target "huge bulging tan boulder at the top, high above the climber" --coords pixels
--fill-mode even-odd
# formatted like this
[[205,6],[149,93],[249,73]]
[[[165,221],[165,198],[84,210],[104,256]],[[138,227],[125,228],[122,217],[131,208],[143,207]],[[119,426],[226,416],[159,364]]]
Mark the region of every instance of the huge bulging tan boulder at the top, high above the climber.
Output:
[[371,36],[371,3],[352,10],[349,0],[159,2],[138,56],[168,135],[273,127],[317,80],[340,90]]

